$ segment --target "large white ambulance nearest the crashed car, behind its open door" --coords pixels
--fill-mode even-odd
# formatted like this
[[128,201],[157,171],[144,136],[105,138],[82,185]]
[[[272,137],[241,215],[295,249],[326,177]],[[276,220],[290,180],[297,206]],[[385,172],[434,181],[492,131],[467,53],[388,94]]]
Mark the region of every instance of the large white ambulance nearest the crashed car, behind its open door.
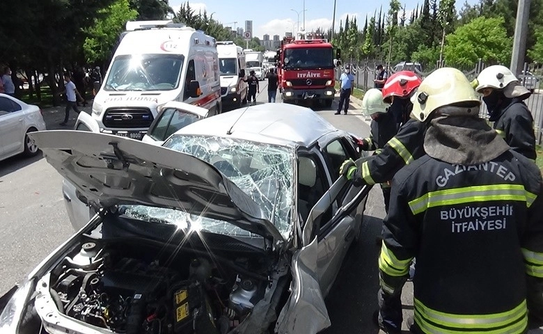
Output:
[[170,101],[221,113],[214,38],[172,21],[127,22],[92,116],[100,132],[141,139]]

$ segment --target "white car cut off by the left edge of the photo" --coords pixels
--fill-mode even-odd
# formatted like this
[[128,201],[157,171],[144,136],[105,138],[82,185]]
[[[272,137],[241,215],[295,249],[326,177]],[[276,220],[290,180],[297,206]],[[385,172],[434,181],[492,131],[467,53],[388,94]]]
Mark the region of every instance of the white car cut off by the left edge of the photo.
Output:
[[45,122],[39,106],[0,94],[0,161],[21,153],[27,157],[38,154],[38,147],[26,134],[42,130]]

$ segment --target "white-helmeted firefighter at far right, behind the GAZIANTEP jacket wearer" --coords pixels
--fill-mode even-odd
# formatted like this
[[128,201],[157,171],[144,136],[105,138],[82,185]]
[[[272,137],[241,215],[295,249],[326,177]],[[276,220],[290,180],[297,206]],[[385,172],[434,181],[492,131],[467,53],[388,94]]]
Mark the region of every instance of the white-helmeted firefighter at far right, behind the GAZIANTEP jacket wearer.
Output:
[[535,160],[533,117],[523,102],[530,97],[530,91],[502,65],[485,68],[475,82],[475,90],[482,94],[496,132],[513,150]]

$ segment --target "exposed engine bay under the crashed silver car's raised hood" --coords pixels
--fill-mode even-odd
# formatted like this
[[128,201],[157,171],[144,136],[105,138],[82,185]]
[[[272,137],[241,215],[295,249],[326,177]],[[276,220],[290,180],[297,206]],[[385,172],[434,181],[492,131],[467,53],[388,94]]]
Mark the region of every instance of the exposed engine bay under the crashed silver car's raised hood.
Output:
[[285,298],[286,284],[276,294],[261,254],[224,264],[212,252],[170,246],[83,239],[49,274],[52,301],[100,333],[227,334],[265,296]]

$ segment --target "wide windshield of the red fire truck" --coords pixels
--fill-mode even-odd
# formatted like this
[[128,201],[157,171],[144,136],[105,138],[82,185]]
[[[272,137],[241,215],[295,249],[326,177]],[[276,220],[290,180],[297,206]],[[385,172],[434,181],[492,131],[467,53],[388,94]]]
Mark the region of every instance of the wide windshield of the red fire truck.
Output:
[[331,47],[286,49],[284,62],[290,69],[333,68],[333,52]]

